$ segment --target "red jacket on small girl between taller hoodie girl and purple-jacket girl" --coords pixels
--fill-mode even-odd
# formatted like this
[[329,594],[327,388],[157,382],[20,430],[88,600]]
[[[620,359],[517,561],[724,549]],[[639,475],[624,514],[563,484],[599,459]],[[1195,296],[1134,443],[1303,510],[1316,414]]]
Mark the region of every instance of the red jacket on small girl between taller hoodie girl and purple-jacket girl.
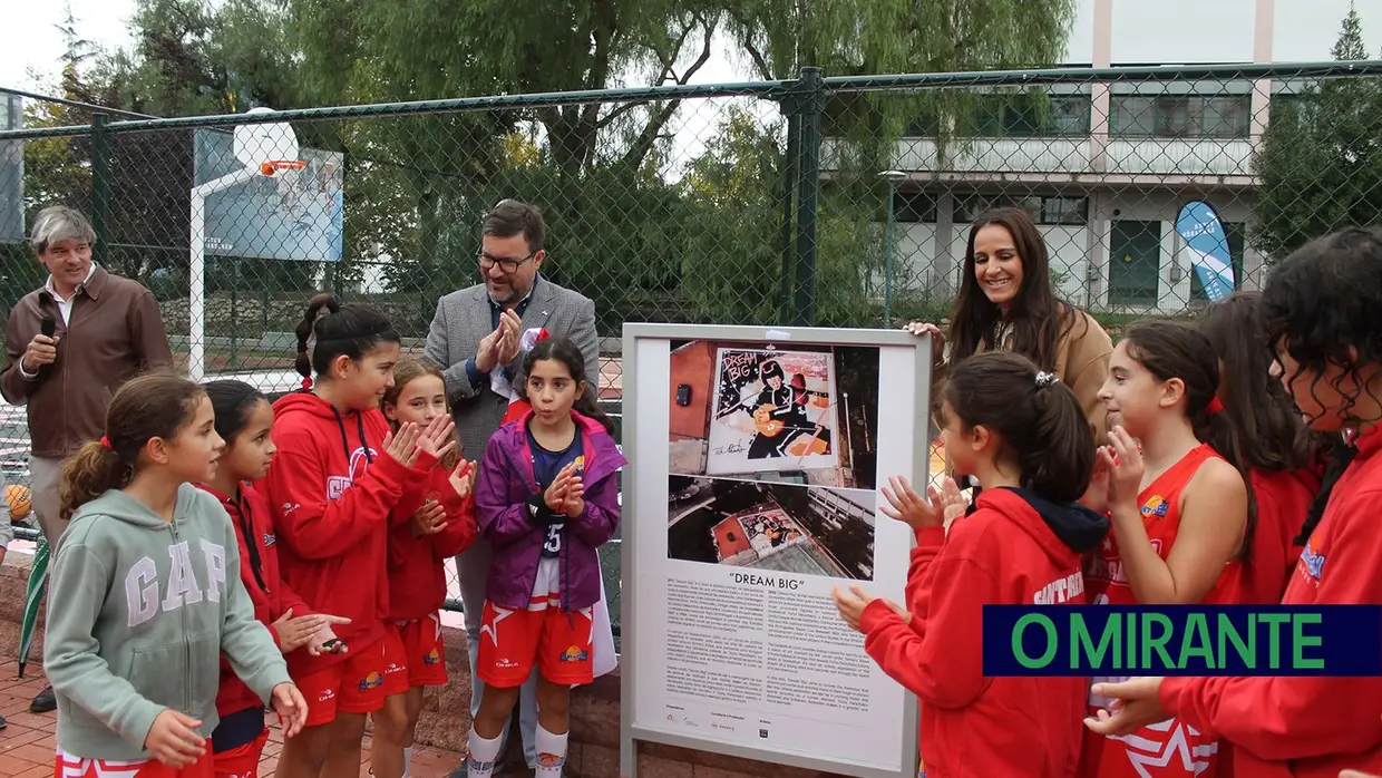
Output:
[[[446,529],[427,538],[413,535],[412,518],[428,499],[446,511]],[[428,616],[446,604],[446,560],[475,542],[474,492],[460,499],[451,468],[438,463],[423,491],[405,495],[394,507],[388,531],[388,618],[406,622]]]

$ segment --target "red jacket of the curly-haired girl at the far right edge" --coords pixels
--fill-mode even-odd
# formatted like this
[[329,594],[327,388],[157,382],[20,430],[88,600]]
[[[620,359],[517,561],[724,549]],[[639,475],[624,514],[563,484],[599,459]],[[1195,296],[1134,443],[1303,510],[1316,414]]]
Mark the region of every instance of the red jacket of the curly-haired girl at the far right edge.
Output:
[[[1382,605],[1382,431],[1370,430],[1356,445],[1357,456],[1291,573],[1285,605]],[[1161,705],[1231,742],[1236,775],[1382,774],[1378,677],[1169,677],[1161,683]]]

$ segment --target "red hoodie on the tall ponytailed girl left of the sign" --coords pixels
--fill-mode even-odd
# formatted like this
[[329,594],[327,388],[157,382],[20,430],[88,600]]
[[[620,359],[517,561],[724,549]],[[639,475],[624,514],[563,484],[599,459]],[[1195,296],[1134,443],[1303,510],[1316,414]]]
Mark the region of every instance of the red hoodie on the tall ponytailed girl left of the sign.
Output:
[[311,392],[274,404],[278,453],[261,491],[274,511],[283,578],[337,625],[348,654],[287,656],[293,677],[315,673],[384,637],[388,616],[388,528],[394,506],[422,489],[437,457],[405,467],[384,453],[388,421],[377,409],[339,412]]

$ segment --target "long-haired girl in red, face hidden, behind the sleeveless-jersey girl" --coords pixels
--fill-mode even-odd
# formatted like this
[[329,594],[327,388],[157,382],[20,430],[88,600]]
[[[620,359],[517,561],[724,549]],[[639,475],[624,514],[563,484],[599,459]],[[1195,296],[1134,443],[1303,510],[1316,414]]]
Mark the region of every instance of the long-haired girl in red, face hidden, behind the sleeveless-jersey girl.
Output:
[[1310,433],[1281,381],[1258,326],[1259,292],[1237,292],[1200,319],[1219,355],[1223,415],[1241,431],[1248,489],[1258,509],[1244,558],[1244,603],[1274,605],[1287,589],[1305,538],[1298,536],[1320,492],[1323,437]]

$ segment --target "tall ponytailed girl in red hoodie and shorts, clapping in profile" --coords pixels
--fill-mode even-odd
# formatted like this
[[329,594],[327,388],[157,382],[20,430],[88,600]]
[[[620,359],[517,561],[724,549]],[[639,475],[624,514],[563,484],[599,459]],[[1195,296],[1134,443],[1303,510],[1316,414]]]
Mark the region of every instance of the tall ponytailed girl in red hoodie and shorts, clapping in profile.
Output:
[[350,619],[337,629],[346,651],[287,658],[308,719],[283,745],[279,778],[357,774],[365,717],[384,705],[390,520],[405,495],[424,488],[453,426],[438,417],[426,428],[390,430],[379,401],[392,384],[399,343],[377,311],[318,294],[297,328],[303,391],[274,404],[278,455],[264,493],[283,578],[312,611]]

